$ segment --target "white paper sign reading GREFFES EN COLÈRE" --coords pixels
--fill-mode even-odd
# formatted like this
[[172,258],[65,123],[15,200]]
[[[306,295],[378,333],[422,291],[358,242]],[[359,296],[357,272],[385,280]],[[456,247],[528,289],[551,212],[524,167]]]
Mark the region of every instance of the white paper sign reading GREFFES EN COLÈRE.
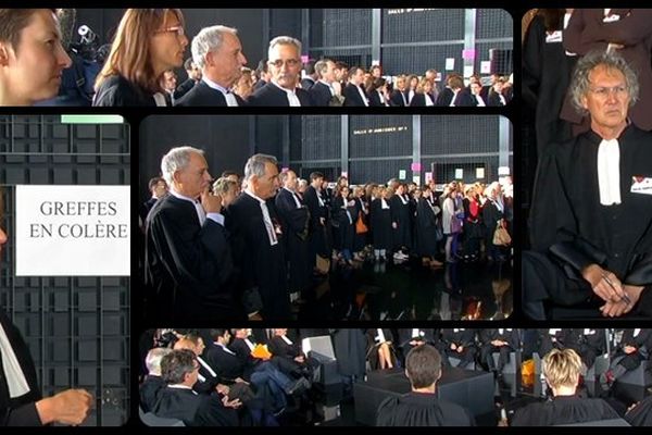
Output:
[[129,276],[129,186],[16,186],[16,276]]

